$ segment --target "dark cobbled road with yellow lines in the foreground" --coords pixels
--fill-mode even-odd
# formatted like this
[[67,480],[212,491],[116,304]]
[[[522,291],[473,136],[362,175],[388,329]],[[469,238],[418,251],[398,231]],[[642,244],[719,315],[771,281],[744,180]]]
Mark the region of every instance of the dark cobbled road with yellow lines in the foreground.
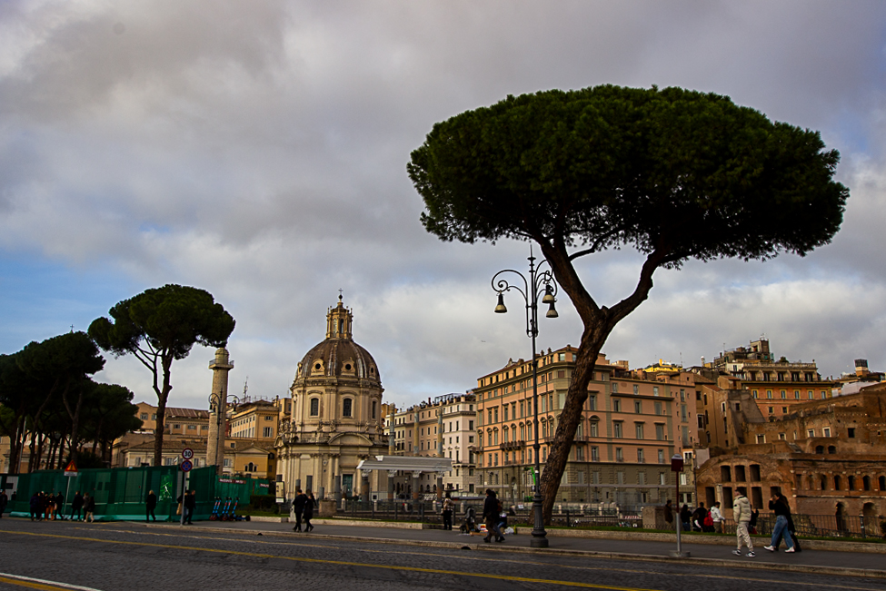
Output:
[[[878,589],[882,579],[322,539],[248,529],[0,521],[0,590]],[[29,577],[29,578],[22,578]],[[42,582],[37,582],[39,579]]]

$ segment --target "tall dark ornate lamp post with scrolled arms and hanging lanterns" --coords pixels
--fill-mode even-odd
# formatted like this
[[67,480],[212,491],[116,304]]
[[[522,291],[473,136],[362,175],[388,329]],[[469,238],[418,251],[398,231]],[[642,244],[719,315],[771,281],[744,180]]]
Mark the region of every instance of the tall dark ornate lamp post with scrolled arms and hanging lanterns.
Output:
[[[541,459],[539,458],[542,446],[538,442],[538,360],[535,356],[535,338],[538,336],[538,302],[539,296],[542,296],[542,303],[548,304],[548,311],[545,314],[547,318],[557,318],[557,310],[553,304],[556,301],[557,282],[553,279],[553,273],[548,271],[540,271],[542,265],[547,261],[541,261],[538,266],[535,265],[535,257],[532,250],[529,254],[529,277],[527,278],[520,271],[513,269],[505,269],[498,271],[493,275],[493,291],[498,293],[498,304],[495,306],[497,314],[503,314],[508,311],[504,306],[504,293],[506,291],[516,291],[523,296],[526,302],[526,335],[533,340],[533,429],[535,431],[535,442],[533,444],[535,454],[535,472],[533,478],[533,538],[530,540],[530,546],[533,548],[548,547],[547,532],[544,531],[544,516],[542,512],[542,483],[540,477],[542,474]],[[523,286],[513,285],[508,282],[503,274],[513,273],[523,281]]]

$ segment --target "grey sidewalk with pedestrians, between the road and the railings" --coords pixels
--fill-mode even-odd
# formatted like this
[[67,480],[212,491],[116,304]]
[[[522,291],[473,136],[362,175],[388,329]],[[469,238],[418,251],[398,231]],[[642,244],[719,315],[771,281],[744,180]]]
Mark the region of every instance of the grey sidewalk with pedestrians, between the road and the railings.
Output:
[[[261,533],[264,536],[284,536],[298,538],[347,539],[357,542],[407,544],[426,547],[451,547],[495,552],[539,553],[547,555],[612,557],[632,560],[687,561],[694,564],[705,563],[712,566],[750,567],[773,570],[816,572],[841,576],[865,576],[886,579],[886,559],[881,553],[831,552],[803,550],[800,553],[785,554],[768,552],[763,549],[765,542],[754,540],[756,557],[741,557],[732,554],[734,546],[723,546],[722,538],[714,538],[713,543],[698,543],[695,539],[685,540],[682,550],[691,553],[689,558],[673,558],[670,552],[676,549],[673,542],[660,542],[630,539],[601,539],[585,537],[561,537],[556,530],[548,532],[548,548],[532,548],[532,536],[521,533],[508,536],[501,544],[483,543],[482,536],[466,536],[455,531],[442,529],[406,529],[399,527],[373,527],[335,524],[334,520],[314,519],[314,531],[310,534],[295,533],[288,523],[260,521],[201,521],[187,527],[188,530],[220,529]],[[177,524],[150,524],[148,527],[181,527]],[[599,533],[599,532],[598,532]],[[621,533],[621,532],[613,532]],[[688,542],[688,543],[686,543]]]

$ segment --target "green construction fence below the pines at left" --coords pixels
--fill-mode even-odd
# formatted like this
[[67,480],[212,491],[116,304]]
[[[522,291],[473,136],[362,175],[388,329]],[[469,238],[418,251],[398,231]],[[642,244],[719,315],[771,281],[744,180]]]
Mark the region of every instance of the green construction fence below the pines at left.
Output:
[[[18,477],[15,500],[6,510],[13,517],[29,517],[30,499],[36,492],[59,491],[65,494],[65,517],[71,515],[75,493],[95,497],[95,519],[99,521],[141,521],[146,518],[145,498],[153,490],[157,496],[154,515],[157,521],[178,521],[178,497],[182,494],[184,472],[178,466],[146,466],[142,468],[82,469],[76,476],[65,476],[63,470],[41,470]],[[264,478],[219,477],[213,466],[195,468],[187,473],[188,490],[196,491],[194,519],[208,519],[213,513],[215,498],[234,499],[238,507],[249,504],[251,495],[267,494]],[[224,507],[224,502],[222,503]]]

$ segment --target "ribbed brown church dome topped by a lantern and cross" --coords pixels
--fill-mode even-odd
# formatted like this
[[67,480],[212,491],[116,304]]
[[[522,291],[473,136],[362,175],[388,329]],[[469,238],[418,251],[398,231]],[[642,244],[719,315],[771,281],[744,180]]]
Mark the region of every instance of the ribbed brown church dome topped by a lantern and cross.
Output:
[[[326,314],[326,339],[309,350],[298,364],[295,382],[312,379],[353,379],[381,386],[382,379],[373,356],[353,341],[353,315],[342,297]],[[365,383],[365,382],[364,382]]]

